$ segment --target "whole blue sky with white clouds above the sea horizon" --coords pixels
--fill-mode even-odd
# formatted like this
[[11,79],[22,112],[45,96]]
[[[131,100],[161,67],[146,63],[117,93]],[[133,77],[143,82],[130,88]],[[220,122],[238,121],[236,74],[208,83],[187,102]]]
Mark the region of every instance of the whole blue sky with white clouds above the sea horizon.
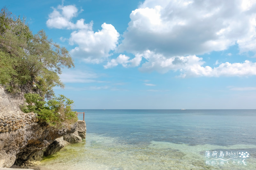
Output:
[[256,0],[1,0],[68,49],[74,109],[256,109]]

